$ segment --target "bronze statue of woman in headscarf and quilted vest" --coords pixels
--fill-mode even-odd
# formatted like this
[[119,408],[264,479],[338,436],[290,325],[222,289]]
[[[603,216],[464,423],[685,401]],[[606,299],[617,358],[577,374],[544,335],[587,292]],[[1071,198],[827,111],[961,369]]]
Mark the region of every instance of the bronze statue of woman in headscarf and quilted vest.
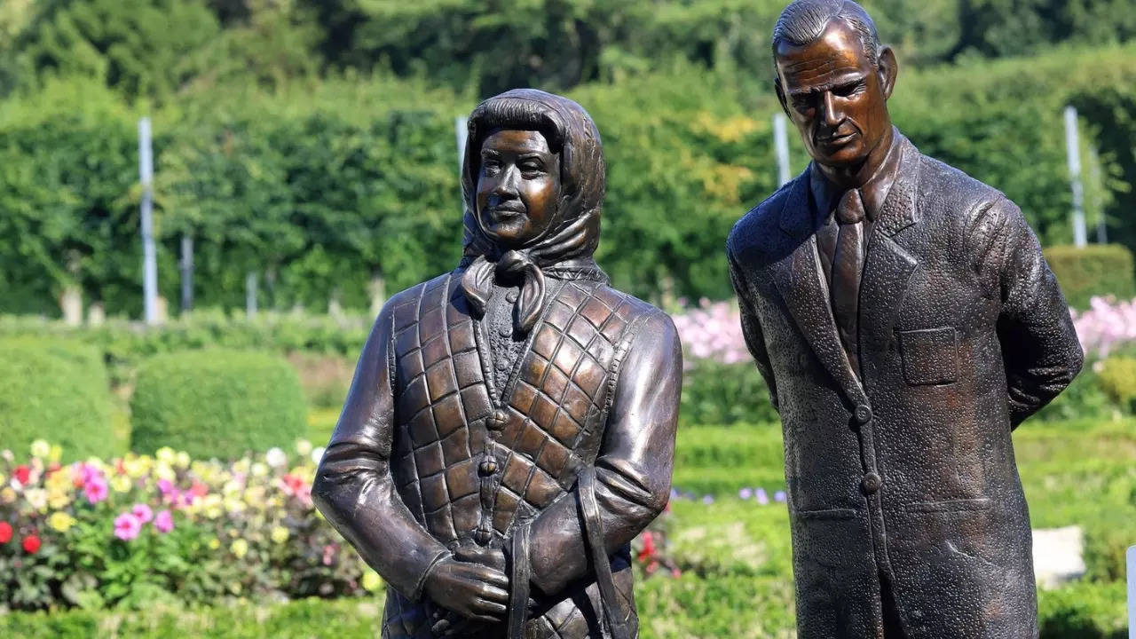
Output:
[[592,259],[600,134],[515,90],[469,118],[465,257],[386,304],[312,497],[389,583],[383,637],[637,636],[682,349]]

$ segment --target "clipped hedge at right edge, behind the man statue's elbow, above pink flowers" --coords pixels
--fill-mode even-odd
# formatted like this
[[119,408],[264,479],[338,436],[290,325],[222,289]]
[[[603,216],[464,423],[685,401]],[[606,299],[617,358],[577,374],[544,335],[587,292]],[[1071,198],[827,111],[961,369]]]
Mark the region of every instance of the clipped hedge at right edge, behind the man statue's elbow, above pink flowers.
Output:
[[1053,274],[1058,276],[1066,301],[1074,308],[1087,308],[1093,296],[1136,296],[1133,254],[1120,244],[1088,244],[1083,248],[1058,246],[1045,249]]

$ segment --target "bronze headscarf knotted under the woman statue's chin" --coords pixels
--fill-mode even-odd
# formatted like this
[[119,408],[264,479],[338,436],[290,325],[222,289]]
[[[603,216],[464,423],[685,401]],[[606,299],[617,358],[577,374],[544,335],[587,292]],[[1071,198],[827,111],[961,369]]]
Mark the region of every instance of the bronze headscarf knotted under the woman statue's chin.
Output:
[[[548,230],[509,249],[485,235],[477,223],[477,175],[482,142],[499,128],[538,131],[560,156],[560,200]],[[607,186],[603,147],[583,107],[536,89],[513,89],[485,100],[469,116],[461,168],[466,200],[461,287],[474,313],[484,315],[495,274],[523,276],[513,306],[516,327],[533,330],[545,305],[545,274],[558,279],[607,281],[592,255],[600,243],[600,213]]]

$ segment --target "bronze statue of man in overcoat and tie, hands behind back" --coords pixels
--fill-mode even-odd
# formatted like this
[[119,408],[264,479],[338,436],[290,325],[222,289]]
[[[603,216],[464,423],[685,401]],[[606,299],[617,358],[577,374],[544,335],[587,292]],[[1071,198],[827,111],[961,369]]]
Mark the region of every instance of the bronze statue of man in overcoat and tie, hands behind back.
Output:
[[892,126],[859,5],[797,0],[772,44],[813,161],[727,251],[784,428],[799,636],[1037,637],[1010,432],[1080,370],[1069,308],[1018,207]]

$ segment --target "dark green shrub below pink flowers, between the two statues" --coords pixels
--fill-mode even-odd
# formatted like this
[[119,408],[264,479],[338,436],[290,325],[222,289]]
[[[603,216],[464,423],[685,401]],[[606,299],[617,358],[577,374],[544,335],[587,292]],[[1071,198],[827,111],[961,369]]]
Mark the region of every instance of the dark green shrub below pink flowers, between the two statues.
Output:
[[752,363],[693,359],[683,377],[684,425],[777,423],[769,389]]

